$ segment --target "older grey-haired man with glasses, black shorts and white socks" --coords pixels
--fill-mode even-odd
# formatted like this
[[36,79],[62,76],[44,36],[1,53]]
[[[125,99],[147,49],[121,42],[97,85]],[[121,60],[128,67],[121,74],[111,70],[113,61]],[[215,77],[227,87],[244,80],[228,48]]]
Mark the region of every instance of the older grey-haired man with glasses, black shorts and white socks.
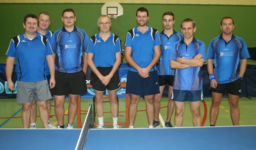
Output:
[[91,71],[91,85],[95,92],[96,109],[98,116],[97,128],[105,128],[103,119],[103,93],[106,88],[111,102],[113,128],[117,124],[118,103],[117,90],[120,88],[118,67],[121,63],[121,45],[118,36],[110,31],[111,20],[107,15],[98,18],[100,31],[89,41],[87,63]]

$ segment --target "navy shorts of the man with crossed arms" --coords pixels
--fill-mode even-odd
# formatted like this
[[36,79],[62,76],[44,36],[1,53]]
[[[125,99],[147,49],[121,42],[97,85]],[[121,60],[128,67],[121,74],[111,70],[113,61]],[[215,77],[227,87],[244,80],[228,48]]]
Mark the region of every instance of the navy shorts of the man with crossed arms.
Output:
[[202,90],[189,91],[189,90],[173,89],[171,99],[173,99],[175,101],[179,101],[179,102],[200,101],[200,100],[203,100],[203,94],[202,94]]

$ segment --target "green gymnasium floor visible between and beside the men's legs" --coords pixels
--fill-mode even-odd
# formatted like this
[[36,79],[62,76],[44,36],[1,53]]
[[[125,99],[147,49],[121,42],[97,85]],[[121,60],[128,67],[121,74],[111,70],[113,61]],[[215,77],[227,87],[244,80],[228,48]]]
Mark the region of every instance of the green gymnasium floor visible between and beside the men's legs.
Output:
[[[207,108],[208,108],[208,113],[207,113],[207,118],[204,126],[209,126],[210,125],[210,106],[211,106],[211,98],[205,98],[204,99]],[[161,110],[160,110],[160,120],[165,121],[166,120],[166,115],[167,115],[167,98],[162,98],[161,101]],[[92,104],[92,99],[81,99],[81,110],[82,110],[82,115],[81,115],[81,120],[83,121],[86,116],[86,110],[88,109],[89,104]],[[239,108],[240,108],[240,125],[256,125],[256,119],[255,119],[255,114],[256,114],[256,98],[251,98],[248,99],[246,97],[242,97],[239,99]],[[21,120],[21,109],[22,105],[16,103],[16,99],[0,99],[0,128],[23,128],[22,125],[22,120]],[[68,113],[68,100],[66,99],[65,101],[65,110],[66,114]],[[104,109],[105,109],[105,114],[104,114],[104,120],[106,122],[112,122],[112,116],[110,113],[110,103],[109,102],[104,102]],[[123,122],[125,121],[125,113],[121,111],[125,111],[125,98],[119,98],[119,121]],[[228,103],[227,98],[223,98],[221,106],[220,106],[220,112],[219,112],[219,117],[217,120],[216,125],[218,126],[228,126],[232,125],[232,121],[230,118],[230,107]],[[204,115],[204,107],[203,104],[201,103],[201,115],[203,117]],[[65,115],[65,124],[67,123],[68,116]],[[163,118],[163,119],[161,119]],[[54,122],[54,124],[57,124],[57,119],[55,116],[54,112],[54,101],[52,101],[52,112],[51,112],[51,118],[50,121]],[[96,119],[97,121],[97,119]],[[39,113],[37,111],[37,128],[42,128],[42,123],[39,118]],[[171,123],[174,125],[174,114],[171,119]],[[75,118],[74,121],[74,127],[77,126],[77,120]],[[138,104],[138,112],[135,120],[134,126],[136,128],[139,127],[147,127],[147,117],[146,117],[146,111],[145,111],[145,102],[141,98]],[[192,125],[192,114],[190,112],[189,108],[189,103],[186,103],[186,109],[184,112],[184,122],[183,122],[183,127],[188,127],[188,126],[193,126]],[[123,128],[125,126],[122,126]],[[162,127],[162,125],[161,125]],[[111,128],[111,126],[106,126],[106,128]]]

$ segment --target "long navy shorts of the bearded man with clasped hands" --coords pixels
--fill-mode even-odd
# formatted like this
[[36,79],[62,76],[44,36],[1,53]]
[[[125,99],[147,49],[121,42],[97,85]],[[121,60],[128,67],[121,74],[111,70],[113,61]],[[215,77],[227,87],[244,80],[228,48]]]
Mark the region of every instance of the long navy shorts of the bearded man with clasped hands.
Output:
[[160,93],[158,71],[149,72],[149,77],[142,78],[138,72],[128,71],[126,93],[134,95],[154,95]]

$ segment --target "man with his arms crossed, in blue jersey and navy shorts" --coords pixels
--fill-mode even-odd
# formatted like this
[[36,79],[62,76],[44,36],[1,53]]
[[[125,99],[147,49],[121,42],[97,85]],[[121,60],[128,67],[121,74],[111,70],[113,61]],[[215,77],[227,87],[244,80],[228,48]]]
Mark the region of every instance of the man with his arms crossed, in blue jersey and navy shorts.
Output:
[[176,107],[174,122],[176,127],[182,126],[185,101],[189,101],[193,125],[201,126],[201,66],[205,61],[206,46],[193,36],[196,31],[195,21],[187,18],[180,27],[184,38],[173,45],[170,54],[170,65],[175,69],[171,96]]

